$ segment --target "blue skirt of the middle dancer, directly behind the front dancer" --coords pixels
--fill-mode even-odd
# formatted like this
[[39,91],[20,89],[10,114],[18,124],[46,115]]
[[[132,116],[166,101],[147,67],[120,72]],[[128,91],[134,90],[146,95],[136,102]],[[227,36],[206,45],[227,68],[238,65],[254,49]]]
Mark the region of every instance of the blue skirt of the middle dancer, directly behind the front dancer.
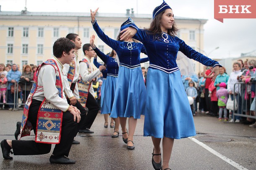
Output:
[[141,67],[119,67],[115,100],[110,117],[133,117],[140,119],[145,113],[146,87]]

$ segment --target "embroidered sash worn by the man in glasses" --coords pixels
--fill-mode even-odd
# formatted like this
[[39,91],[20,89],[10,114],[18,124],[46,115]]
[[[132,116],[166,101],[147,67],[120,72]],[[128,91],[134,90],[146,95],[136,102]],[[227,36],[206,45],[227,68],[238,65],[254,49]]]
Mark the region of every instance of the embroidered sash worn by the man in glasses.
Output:
[[[82,61],[80,61],[80,62],[85,62],[87,64],[88,73],[91,74],[91,67],[89,65],[89,62],[85,58],[83,58]],[[78,80],[77,84],[78,84],[78,92],[79,92],[79,96],[80,96],[80,100],[81,100],[81,105],[83,107],[85,107],[89,89],[91,87],[91,81],[84,82],[81,75],[79,75],[79,80]]]

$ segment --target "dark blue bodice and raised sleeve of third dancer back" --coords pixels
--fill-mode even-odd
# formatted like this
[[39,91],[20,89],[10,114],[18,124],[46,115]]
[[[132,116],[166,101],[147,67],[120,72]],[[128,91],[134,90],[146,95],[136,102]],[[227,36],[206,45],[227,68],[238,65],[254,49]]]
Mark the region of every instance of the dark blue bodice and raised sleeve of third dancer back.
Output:
[[112,58],[110,56],[105,55],[97,47],[93,49],[95,53],[97,53],[97,56],[99,56],[99,58],[102,59],[102,61],[107,64],[107,75],[117,77],[119,66],[116,61],[116,58]]

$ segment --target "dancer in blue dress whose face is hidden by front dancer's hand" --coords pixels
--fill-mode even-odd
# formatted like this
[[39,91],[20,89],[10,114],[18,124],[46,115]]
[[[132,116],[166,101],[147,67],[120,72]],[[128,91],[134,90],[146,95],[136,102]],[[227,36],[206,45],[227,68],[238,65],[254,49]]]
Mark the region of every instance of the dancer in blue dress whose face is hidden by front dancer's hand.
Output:
[[[145,113],[146,87],[141,71],[140,53],[145,53],[146,51],[143,44],[134,42],[132,38],[125,39],[125,41],[116,41],[106,36],[95,20],[97,10],[94,12],[91,11],[93,28],[99,38],[116,51],[120,61],[117,89],[110,117],[119,117],[123,132],[123,141],[127,143],[129,150],[133,150],[135,148],[133,134],[137,119],[140,119],[141,114]],[[123,23],[120,29],[122,30],[124,25],[130,24],[134,24],[131,18]],[[126,129],[127,117],[129,118],[129,134]]]

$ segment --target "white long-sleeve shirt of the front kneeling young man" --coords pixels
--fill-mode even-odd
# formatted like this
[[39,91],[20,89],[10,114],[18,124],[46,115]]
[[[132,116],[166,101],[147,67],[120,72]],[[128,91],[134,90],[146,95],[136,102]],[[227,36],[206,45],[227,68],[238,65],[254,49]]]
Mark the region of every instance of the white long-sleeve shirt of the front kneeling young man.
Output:
[[[60,63],[60,61],[57,58],[54,57],[51,59],[57,63],[57,66],[60,71],[60,79],[63,85],[63,81],[64,81],[63,65]],[[43,101],[44,98],[46,98],[57,108],[59,108],[63,112],[66,112],[69,107],[68,101],[65,97],[64,91],[63,91],[62,98],[58,95],[59,91],[56,88],[55,83],[56,83],[56,74],[55,74],[54,67],[49,64],[44,64],[43,66],[41,66],[39,70],[38,77],[37,77],[38,88],[37,88],[37,91],[35,91],[34,95],[32,96],[32,99]]]

